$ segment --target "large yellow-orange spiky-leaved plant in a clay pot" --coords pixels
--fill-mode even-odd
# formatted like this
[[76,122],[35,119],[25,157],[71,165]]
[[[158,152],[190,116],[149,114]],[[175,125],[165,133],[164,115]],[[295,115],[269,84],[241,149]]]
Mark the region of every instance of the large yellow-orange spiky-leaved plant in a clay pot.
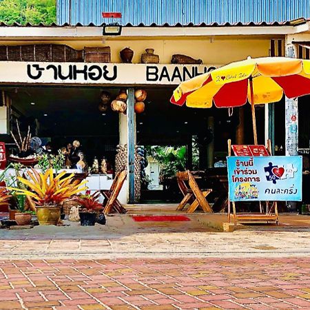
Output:
[[52,168],[44,174],[31,169],[26,172],[26,178],[18,178],[28,189],[8,189],[14,190],[17,195],[23,194],[32,198],[37,205],[40,225],[57,225],[61,216],[61,203],[87,189],[82,187],[86,181],[80,183],[79,180],[74,180],[74,174],[65,177],[64,175],[65,172],[61,172],[54,176]]

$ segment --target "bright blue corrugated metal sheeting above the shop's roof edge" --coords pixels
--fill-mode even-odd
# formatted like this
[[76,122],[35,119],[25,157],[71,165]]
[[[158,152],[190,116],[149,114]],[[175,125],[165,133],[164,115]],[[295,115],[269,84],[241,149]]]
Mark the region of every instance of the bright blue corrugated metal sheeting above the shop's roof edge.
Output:
[[101,12],[122,12],[123,25],[242,25],[310,17],[309,0],[57,0],[59,25],[101,25]]

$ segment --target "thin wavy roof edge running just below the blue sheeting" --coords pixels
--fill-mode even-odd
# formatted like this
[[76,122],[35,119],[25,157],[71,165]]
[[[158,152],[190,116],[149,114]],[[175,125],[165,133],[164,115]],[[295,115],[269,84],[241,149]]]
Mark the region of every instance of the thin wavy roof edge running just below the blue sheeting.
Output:
[[[304,22],[306,20],[304,19]],[[103,27],[106,23],[101,23],[101,25],[95,25],[94,23],[89,23],[87,25],[83,25],[82,23],[76,23],[75,25],[70,25],[69,23],[63,23],[62,25],[58,25],[56,23],[52,23],[50,25],[45,25],[43,23],[39,23],[37,25],[32,25],[31,23],[27,23],[25,25],[21,25],[19,23],[2,23],[0,22],[0,27]],[[123,25],[123,27],[149,27],[149,28],[156,28],[156,27],[168,27],[168,28],[183,28],[183,27],[259,27],[259,26],[283,26],[283,25],[291,25],[291,21],[274,21],[273,23],[266,23],[265,21],[262,21],[260,23],[241,23],[240,21],[238,23],[200,23],[198,25],[195,25],[194,23],[187,23],[187,25],[182,25],[181,23],[176,23],[175,25],[169,25],[169,23],[164,23],[163,25],[156,25],[156,23],[152,23],[150,25],[145,25],[144,23],[139,23],[138,25],[133,25],[132,23],[127,23],[126,25]]]

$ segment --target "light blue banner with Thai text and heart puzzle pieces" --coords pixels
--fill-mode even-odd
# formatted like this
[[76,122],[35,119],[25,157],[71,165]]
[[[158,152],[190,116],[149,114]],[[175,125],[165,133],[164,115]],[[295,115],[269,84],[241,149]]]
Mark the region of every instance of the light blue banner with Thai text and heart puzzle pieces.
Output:
[[302,156],[227,157],[230,201],[301,201]]

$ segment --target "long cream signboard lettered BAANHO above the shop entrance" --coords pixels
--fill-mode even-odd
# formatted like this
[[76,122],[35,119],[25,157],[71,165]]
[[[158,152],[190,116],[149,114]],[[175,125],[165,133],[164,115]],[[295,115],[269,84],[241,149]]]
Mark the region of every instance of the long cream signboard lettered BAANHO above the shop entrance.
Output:
[[214,65],[0,61],[1,83],[178,85]]

